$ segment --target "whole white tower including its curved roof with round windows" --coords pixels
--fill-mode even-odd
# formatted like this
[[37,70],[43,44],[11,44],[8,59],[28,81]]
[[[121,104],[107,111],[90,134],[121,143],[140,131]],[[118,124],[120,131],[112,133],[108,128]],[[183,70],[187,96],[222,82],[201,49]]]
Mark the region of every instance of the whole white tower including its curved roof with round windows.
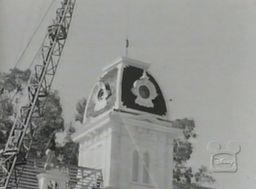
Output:
[[72,135],[79,166],[102,169],[103,188],[172,189],[173,139],[182,132],[148,67],[121,57],[103,69]]

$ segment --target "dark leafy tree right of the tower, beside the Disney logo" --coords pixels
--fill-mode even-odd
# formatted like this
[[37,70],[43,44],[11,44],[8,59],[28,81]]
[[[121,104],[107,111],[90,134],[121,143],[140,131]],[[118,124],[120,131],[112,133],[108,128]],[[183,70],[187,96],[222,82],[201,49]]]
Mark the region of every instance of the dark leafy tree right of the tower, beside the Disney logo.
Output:
[[[187,167],[187,160],[193,152],[192,143],[189,138],[196,138],[195,121],[193,119],[176,119],[173,122],[173,127],[183,130],[183,135],[174,140],[173,147],[173,180],[182,183],[192,183],[200,185],[202,182],[214,183],[215,179],[210,175],[205,166],[201,166],[198,172],[193,173],[191,167]],[[194,180],[194,182],[192,182]]]

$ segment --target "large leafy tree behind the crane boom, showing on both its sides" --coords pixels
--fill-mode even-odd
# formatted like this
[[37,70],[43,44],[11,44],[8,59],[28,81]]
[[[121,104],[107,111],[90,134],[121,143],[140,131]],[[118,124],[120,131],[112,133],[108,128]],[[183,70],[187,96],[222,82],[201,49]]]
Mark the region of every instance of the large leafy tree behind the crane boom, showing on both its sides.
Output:
[[[23,97],[23,89],[26,88],[29,80],[30,70],[19,70],[17,68],[10,70],[10,73],[0,73],[0,148],[4,148],[7,142],[9,132],[12,128]],[[50,92],[48,98],[41,99],[45,101],[44,114],[40,120],[37,130],[37,138],[31,147],[31,156],[45,156],[45,148],[49,136],[54,130],[64,129],[64,119],[62,118],[62,107],[60,97],[57,91]]]

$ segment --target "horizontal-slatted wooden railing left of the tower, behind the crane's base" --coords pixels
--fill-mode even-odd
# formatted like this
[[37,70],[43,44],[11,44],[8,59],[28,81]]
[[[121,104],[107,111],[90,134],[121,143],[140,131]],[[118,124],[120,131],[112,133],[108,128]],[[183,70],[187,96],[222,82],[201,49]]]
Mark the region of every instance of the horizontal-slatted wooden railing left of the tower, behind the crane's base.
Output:
[[[18,189],[38,189],[36,175],[44,172],[43,159],[29,158],[26,165],[17,166],[22,171]],[[76,165],[57,164],[61,172],[69,175],[66,189],[100,189],[102,184],[102,172],[99,169],[90,169]]]

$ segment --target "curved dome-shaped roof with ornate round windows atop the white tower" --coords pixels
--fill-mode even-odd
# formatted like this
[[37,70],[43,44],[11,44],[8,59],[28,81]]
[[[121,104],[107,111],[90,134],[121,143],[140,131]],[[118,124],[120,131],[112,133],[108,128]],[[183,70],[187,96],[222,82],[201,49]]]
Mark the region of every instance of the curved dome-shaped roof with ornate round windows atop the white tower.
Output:
[[148,71],[149,66],[121,57],[105,67],[91,91],[84,122],[89,117],[116,110],[167,120],[166,101],[157,81]]

